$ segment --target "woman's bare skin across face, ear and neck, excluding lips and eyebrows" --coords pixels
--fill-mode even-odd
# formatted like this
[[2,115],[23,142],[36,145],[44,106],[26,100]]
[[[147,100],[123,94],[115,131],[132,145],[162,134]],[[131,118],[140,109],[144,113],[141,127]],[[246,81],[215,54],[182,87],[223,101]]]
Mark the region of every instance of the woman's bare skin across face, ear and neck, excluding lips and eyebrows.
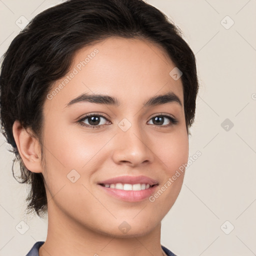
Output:
[[[110,37],[82,48],[70,71],[95,48],[98,53],[86,66],[52,99],[45,100],[45,165],[31,131],[22,129],[18,121],[13,124],[25,166],[42,172],[46,182],[48,232],[39,255],[160,256],[161,220],[179,194],[184,173],[153,202],[114,198],[99,189],[97,182],[146,175],[158,181],[157,191],[187,162],[182,82],[169,75],[175,65],[159,45],[134,38]],[[179,97],[182,106],[168,102],[142,107],[149,97],[169,91]],[[115,96],[120,105],[78,102],[66,107],[84,92]],[[94,112],[107,117],[100,117],[100,125],[105,125],[92,129],[76,122]],[[174,116],[178,123],[166,126],[171,122],[165,117],[163,124],[154,124],[152,117],[161,113]],[[125,132],[118,126],[123,118],[131,123]],[[89,118],[83,123],[91,124]],[[72,169],[80,174],[74,183],[67,178]],[[123,221],[130,226],[125,234],[118,228]]]

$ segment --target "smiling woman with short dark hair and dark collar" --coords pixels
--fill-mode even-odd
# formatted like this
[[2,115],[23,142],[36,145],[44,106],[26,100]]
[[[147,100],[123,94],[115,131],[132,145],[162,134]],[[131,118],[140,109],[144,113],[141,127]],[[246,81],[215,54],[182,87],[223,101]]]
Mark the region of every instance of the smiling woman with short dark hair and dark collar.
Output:
[[27,255],[175,255],[161,220],[181,189],[198,91],[180,31],[142,0],[70,0],[11,42],[2,133],[48,214]]

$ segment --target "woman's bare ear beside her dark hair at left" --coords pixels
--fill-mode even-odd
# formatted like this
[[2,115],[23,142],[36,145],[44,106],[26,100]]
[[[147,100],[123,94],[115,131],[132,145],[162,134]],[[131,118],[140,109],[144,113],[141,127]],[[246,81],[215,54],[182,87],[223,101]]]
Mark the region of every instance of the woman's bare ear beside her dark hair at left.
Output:
[[12,133],[26,168],[32,172],[42,172],[39,142],[32,136],[31,129],[23,128],[20,122],[15,120]]

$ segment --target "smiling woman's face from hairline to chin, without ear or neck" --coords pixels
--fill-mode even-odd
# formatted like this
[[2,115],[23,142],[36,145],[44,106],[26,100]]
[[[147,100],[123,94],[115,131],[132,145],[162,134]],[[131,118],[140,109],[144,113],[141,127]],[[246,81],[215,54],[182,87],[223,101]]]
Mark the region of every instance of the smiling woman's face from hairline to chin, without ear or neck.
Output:
[[76,53],[43,106],[48,214],[114,236],[159,225],[188,158],[174,67],[160,46],[140,39],[108,38]]

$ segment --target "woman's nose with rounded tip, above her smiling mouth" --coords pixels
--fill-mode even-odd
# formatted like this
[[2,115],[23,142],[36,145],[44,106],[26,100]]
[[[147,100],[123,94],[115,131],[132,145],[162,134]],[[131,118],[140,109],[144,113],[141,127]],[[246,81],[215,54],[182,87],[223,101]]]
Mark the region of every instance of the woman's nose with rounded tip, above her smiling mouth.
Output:
[[153,162],[150,137],[138,125],[132,124],[126,131],[119,129],[114,141],[112,159],[116,164],[133,167]]

